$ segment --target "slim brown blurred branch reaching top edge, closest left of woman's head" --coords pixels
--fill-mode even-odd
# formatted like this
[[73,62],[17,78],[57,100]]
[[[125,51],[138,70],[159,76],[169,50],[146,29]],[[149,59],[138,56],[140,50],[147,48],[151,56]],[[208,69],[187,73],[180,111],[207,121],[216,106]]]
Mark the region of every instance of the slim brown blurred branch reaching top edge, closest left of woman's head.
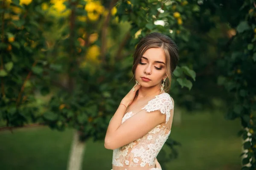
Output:
[[101,34],[101,57],[102,57],[102,62],[105,62],[105,56],[106,56],[106,51],[107,51],[107,34],[108,34],[108,23],[111,18],[111,9],[115,6],[118,0],[111,0],[111,3],[108,8],[108,16],[106,17],[103,26],[102,26],[102,34]]

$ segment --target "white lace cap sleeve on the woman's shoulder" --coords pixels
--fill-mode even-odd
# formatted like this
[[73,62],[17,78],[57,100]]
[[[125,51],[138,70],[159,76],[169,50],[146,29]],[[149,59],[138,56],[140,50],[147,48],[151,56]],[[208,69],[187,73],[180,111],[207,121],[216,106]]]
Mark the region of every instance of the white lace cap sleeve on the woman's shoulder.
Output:
[[171,96],[167,93],[163,93],[157,95],[154,99],[150,100],[147,105],[145,105],[143,109],[147,112],[151,111],[160,111],[162,114],[166,115],[166,123],[168,122],[171,113],[170,111],[173,109],[173,102]]

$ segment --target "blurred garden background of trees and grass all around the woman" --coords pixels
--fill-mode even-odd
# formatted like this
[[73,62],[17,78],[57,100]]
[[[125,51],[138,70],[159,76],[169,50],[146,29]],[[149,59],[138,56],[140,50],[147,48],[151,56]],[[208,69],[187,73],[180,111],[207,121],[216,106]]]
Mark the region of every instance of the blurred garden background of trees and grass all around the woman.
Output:
[[254,0],[0,0],[0,169],[110,170],[108,123],[151,32],[180,61],[163,170],[256,169]]

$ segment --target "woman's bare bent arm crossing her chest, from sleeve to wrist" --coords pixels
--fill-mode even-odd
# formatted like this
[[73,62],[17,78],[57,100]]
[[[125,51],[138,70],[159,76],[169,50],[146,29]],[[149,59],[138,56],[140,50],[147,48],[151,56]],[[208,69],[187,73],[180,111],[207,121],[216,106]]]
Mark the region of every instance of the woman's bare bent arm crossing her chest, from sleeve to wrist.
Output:
[[[117,111],[121,111],[123,109],[121,106],[119,106],[119,108]],[[105,148],[111,150],[140,139],[154,127],[166,120],[166,115],[162,114],[160,111],[152,111],[148,113],[143,110],[140,113],[136,113],[134,116],[131,116],[123,124],[121,124],[121,114],[118,115],[115,113],[114,116],[115,117],[111,120],[111,123],[113,124],[109,125],[105,137]]]

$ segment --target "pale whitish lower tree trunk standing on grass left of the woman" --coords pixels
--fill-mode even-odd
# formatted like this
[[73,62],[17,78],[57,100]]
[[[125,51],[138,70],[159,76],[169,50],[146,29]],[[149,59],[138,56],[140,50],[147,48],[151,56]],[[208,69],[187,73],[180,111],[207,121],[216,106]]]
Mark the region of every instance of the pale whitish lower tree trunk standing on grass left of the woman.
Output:
[[74,133],[73,142],[70,150],[70,157],[67,170],[81,170],[86,144],[79,140],[79,132]]

